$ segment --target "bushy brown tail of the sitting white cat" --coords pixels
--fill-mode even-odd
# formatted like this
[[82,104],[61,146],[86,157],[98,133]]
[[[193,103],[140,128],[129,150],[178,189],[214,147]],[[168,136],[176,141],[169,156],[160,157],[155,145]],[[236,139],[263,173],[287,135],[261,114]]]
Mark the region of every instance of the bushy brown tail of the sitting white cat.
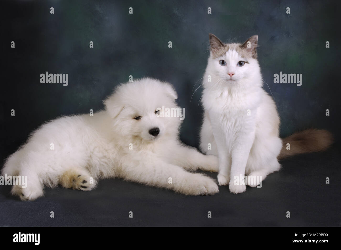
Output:
[[[290,144],[290,150],[286,149],[287,143]],[[283,139],[283,147],[277,159],[281,160],[296,154],[324,151],[332,143],[333,136],[325,129],[307,129],[296,132]]]

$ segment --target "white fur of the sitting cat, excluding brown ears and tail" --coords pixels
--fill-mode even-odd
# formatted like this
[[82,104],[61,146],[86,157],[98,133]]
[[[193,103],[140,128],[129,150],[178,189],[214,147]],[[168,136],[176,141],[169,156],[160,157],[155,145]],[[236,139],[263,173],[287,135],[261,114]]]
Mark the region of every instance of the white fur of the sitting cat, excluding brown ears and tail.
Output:
[[[221,66],[220,60],[225,60],[226,65]],[[238,67],[241,60],[249,63]],[[228,73],[234,73],[232,78]],[[229,184],[232,193],[246,190],[244,184],[234,182],[236,177],[248,175],[250,180],[261,176],[264,180],[280,168],[280,120],[275,102],[262,85],[256,59],[242,58],[233,49],[214,59],[211,52],[203,81],[205,114],[200,147],[206,154],[219,156],[218,182]],[[212,145],[211,150],[208,144]],[[259,182],[246,184],[254,187]]]

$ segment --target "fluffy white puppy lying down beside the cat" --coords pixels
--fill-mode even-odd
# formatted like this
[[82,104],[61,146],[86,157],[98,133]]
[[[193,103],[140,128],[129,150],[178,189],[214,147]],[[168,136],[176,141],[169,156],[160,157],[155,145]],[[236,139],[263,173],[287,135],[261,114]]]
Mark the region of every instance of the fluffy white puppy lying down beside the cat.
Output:
[[176,99],[172,85],[144,78],[118,86],[104,111],[43,124],[5,162],[2,174],[27,176],[27,187],[13,185],[12,194],[34,200],[44,186],[91,190],[96,180],[111,177],[186,195],[217,193],[213,179],[186,171],[217,172],[217,157],[181,143],[179,117],[157,112],[178,107]]

